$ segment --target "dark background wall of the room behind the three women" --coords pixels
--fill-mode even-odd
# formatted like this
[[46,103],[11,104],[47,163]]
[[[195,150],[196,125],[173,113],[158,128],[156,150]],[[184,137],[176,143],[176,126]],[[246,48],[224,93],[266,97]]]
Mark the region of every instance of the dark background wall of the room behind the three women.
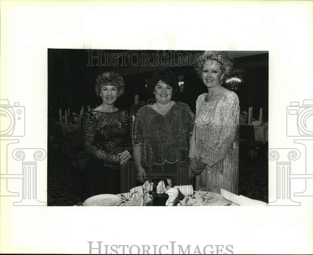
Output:
[[[120,53],[126,50],[106,50],[106,53]],[[259,117],[263,107],[264,121],[268,120],[268,53],[249,52],[248,56],[234,58],[234,72],[243,79],[236,91],[240,112],[248,111],[253,106],[253,117]],[[236,56],[236,54],[234,54]],[[95,108],[102,102],[95,95],[97,75],[117,67],[93,65],[88,66],[89,53],[85,49],[48,49],[48,117],[58,119],[58,110],[70,108],[80,112],[81,106]],[[125,93],[116,102],[116,107],[129,109],[133,105],[135,87],[139,86],[140,99],[147,100],[145,84],[156,67],[124,67],[118,71],[125,80]],[[194,66],[176,66],[171,68],[176,75],[184,76],[184,91],[176,95],[177,101],[187,103],[195,112],[197,97],[207,89],[196,75]],[[177,98],[178,97],[178,98]],[[174,98],[175,99],[175,98]]]

